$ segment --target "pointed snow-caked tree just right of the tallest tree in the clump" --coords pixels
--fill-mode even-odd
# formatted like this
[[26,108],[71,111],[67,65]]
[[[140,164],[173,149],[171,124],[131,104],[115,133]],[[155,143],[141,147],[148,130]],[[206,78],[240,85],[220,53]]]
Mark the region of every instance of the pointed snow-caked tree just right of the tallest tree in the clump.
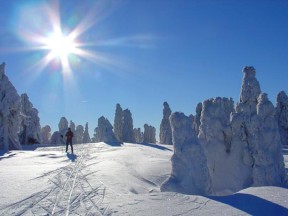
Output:
[[265,93],[259,95],[256,108],[259,124],[253,152],[253,185],[281,186],[286,181],[286,172],[275,108]]

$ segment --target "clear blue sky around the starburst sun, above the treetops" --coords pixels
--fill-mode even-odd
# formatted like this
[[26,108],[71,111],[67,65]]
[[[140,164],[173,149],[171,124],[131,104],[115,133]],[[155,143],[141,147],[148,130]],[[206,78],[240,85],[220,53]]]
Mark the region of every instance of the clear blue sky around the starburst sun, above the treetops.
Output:
[[[256,68],[273,103],[288,91],[287,0],[62,0],[59,10],[55,3],[0,0],[0,61],[53,131],[62,116],[89,122],[90,131],[102,115],[113,124],[120,103],[134,127],[148,123],[158,133],[164,101],[186,115],[208,98],[237,102],[245,65]],[[57,57],[41,67],[50,50],[37,38],[53,32],[51,14],[65,35],[84,27],[76,39],[91,58],[70,54],[70,73]]]

